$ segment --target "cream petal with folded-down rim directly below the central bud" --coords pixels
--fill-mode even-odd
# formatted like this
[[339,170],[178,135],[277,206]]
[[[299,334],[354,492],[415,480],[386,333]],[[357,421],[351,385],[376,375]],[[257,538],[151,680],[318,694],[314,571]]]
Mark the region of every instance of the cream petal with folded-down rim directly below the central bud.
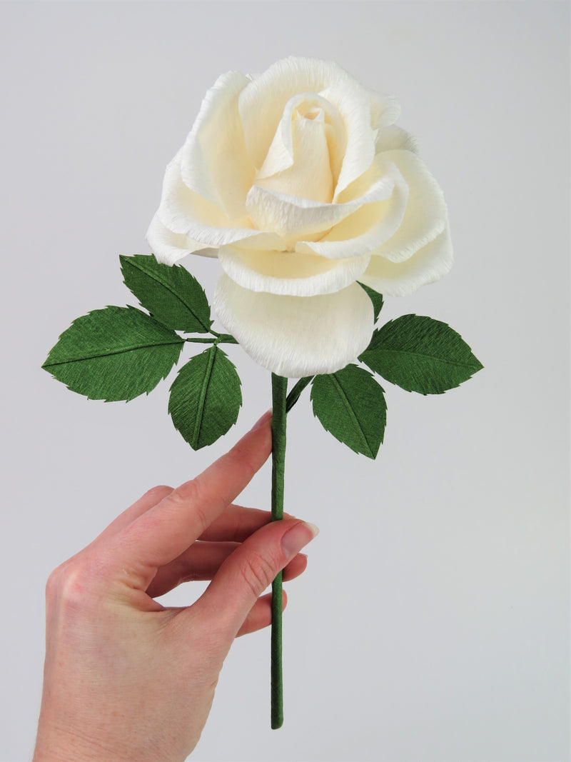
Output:
[[380,177],[359,198],[346,203],[320,203],[253,185],[246,207],[257,229],[273,230],[285,242],[295,244],[299,239],[321,237],[365,204],[387,200],[393,189],[393,178]]

